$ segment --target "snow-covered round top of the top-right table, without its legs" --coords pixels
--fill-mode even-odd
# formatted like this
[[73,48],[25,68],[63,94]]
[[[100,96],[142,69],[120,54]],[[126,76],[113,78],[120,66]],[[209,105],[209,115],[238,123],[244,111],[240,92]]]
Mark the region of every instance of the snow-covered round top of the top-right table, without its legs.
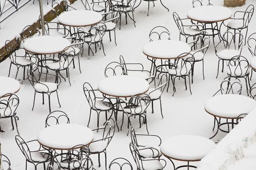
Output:
[[188,11],[187,17],[198,22],[219,22],[232,17],[232,11],[223,6],[200,6]]

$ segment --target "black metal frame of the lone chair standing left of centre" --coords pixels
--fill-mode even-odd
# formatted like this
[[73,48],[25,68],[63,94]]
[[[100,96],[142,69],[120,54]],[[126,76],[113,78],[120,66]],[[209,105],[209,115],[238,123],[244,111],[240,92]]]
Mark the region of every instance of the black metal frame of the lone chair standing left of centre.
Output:
[[[34,68],[33,68],[33,66],[34,66]],[[49,111],[51,112],[51,100],[50,100],[50,97],[51,97],[51,94],[52,94],[52,93],[56,92],[56,94],[57,94],[57,99],[58,99],[58,102],[59,102],[58,88],[57,88],[55,91],[51,91],[51,92],[50,92],[50,91],[49,91],[49,87],[48,87],[47,85],[44,85],[44,84],[42,84],[42,83],[40,82],[41,75],[42,75],[42,74],[45,75],[45,76],[46,76],[46,80],[47,80],[47,76],[54,76],[54,77],[56,77],[56,79],[58,79],[58,82],[59,82],[59,83],[57,84],[57,87],[59,86],[59,84],[60,84],[60,82],[61,82],[61,79],[60,79],[60,77],[57,76],[57,75],[53,75],[53,74],[49,74],[49,73],[40,72],[40,71],[39,71],[39,68],[38,68],[38,66],[37,66],[37,64],[35,64],[35,63],[32,64],[31,67],[32,67],[32,70],[28,70],[27,75],[28,75],[28,80],[29,80],[30,84],[33,86],[33,88],[35,89],[35,87],[34,87],[35,84],[41,84],[41,85],[45,86],[45,87],[48,89],[48,90],[47,90],[48,92],[39,92],[39,91],[37,91],[37,90],[35,89],[35,93],[34,93],[34,102],[33,102],[32,110],[34,109],[34,106],[35,106],[36,94],[37,94],[37,93],[41,93],[41,94],[42,94],[42,101],[43,101],[43,104],[44,104],[44,94],[46,94],[46,95],[48,96],[48,100],[49,100]],[[38,71],[39,78],[36,78],[36,76],[35,76],[35,74],[34,74],[35,71]],[[30,78],[30,75],[31,75],[31,78]],[[45,81],[45,82],[46,82],[46,81]],[[61,106],[60,106],[60,103],[59,103],[59,107],[61,107]]]

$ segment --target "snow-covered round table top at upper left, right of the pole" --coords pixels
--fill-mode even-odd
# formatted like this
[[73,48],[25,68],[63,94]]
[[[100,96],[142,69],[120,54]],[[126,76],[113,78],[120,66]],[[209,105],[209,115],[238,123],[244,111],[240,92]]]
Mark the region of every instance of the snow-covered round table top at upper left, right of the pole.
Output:
[[88,10],[73,10],[59,15],[59,23],[72,27],[86,27],[97,24],[102,19],[100,13]]

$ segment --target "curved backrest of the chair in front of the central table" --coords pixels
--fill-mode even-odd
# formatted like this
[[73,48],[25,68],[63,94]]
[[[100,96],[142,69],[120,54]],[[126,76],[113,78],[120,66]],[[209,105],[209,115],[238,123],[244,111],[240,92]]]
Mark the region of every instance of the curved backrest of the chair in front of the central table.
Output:
[[[139,93],[130,98],[128,105],[125,107],[127,113],[133,114],[144,114],[148,108],[151,99],[149,95],[144,93]],[[121,105],[121,107],[123,107]]]

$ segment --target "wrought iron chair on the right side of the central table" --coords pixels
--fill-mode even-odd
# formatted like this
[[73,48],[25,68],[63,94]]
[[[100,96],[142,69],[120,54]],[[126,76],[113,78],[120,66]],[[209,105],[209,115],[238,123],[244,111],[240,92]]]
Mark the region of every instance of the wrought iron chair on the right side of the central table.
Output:
[[[154,101],[156,100],[160,101],[160,110],[163,118],[161,96],[168,81],[166,70],[162,67],[157,68],[156,75],[153,79],[154,79],[154,87],[149,88],[146,94],[148,94],[151,99],[152,113],[154,113]],[[157,84],[156,84],[156,79],[158,79]]]

